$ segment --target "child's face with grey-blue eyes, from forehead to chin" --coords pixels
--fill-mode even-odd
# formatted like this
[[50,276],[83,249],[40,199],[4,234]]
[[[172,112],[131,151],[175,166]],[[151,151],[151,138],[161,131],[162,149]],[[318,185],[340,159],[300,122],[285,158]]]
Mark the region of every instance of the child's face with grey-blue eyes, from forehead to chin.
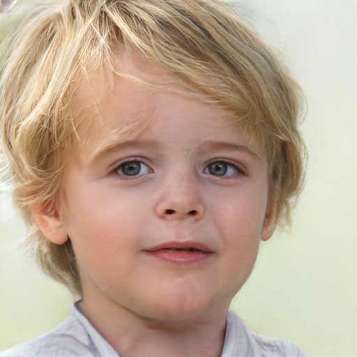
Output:
[[221,109],[130,79],[99,111],[59,208],[84,301],[160,321],[225,312],[275,224],[264,153]]

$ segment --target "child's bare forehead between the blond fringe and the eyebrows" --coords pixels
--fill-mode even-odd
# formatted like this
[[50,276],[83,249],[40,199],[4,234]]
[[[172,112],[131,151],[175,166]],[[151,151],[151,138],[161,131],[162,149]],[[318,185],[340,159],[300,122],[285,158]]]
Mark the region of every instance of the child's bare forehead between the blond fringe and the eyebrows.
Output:
[[[172,110],[181,112],[178,118],[189,120],[195,115],[210,116],[213,110],[227,120],[230,130],[236,128],[239,131],[233,116],[210,103],[192,100],[184,94],[184,84],[179,78],[157,66],[126,56],[116,61],[114,69],[112,82],[93,75],[78,92],[76,129],[80,148],[88,160],[96,156],[102,146],[110,148],[111,143],[114,146],[135,139],[149,128],[153,134],[151,124],[163,115],[158,112],[160,107],[167,108],[165,100],[171,103]],[[167,110],[165,115],[170,116],[170,111]],[[204,127],[206,123],[197,121],[197,125]],[[178,128],[182,129],[182,126]],[[214,123],[211,123],[211,129],[214,130]],[[252,142],[249,145],[256,146]]]

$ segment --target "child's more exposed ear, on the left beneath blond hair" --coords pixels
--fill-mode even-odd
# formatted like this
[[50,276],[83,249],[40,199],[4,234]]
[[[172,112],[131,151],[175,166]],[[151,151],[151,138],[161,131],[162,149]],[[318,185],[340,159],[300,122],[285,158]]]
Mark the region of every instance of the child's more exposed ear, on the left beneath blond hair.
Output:
[[44,202],[36,202],[31,205],[31,211],[38,227],[49,241],[55,244],[66,243],[68,234],[56,208]]

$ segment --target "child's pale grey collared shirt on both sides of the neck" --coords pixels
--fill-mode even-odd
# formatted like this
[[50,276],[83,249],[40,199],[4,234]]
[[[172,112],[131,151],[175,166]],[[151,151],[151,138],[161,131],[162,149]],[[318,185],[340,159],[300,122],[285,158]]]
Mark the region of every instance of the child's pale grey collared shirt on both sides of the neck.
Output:
[[[1,357],[120,357],[73,306],[68,319],[36,340],[8,349]],[[227,313],[225,344],[221,357],[307,357],[295,344],[250,331],[240,317]]]

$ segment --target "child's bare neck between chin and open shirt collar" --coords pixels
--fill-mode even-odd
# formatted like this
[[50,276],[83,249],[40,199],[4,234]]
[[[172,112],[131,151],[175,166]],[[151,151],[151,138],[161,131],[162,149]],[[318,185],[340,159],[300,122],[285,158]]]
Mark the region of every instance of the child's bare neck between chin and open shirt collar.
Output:
[[210,309],[179,321],[154,321],[116,303],[84,299],[79,309],[121,357],[219,357],[222,353],[227,310],[215,314]]

